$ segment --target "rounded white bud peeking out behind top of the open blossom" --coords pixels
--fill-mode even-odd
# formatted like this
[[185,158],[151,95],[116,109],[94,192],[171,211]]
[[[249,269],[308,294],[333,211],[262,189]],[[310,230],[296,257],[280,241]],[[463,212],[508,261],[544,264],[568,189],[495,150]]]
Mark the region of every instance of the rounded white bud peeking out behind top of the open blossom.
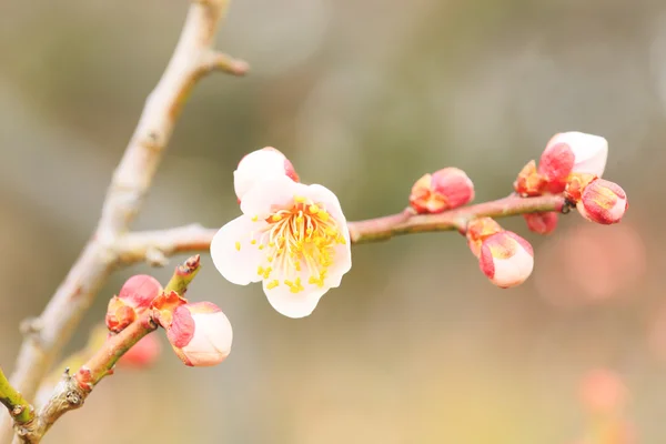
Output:
[[294,165],[273,147],[262,148],[246,154],[233,172],[233,186],[239,203],[243,195],[259,182],[282,175],[299,182],[299,174],[296,174]]

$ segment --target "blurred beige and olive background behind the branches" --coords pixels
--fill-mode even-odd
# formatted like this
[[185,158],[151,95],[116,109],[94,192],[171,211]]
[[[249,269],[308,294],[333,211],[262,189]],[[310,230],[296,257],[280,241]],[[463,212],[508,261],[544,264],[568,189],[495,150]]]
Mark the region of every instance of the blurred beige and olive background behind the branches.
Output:
[[[94,228],[185,11],[0,0],[7,370],[19,322],[41,312]],[[451,165],[477,202],[504,196],[567,130],[607,138],[605,176],[630,210],[609,228],[572,213],[547,238],[503,221],[535,248],[513,290],[493,286],[455,233],[356,246],[343,285],[299,321],[205,254],[189,296],[224,310],[230,357],[189,369],[160,337],[152,369],[104,380],[47,442],[577,443],[597,424],[581,395],[589,372],[624,385],[637,442],[666,442],[666,3],[232,1],[219,48],[251,75],[194,90],[135,228],[235,218],[232,171],[264,145],[360,220],[400,211],[416,179]],[[115,273],[67,352],[127,278],[164,282],[180,259]]]

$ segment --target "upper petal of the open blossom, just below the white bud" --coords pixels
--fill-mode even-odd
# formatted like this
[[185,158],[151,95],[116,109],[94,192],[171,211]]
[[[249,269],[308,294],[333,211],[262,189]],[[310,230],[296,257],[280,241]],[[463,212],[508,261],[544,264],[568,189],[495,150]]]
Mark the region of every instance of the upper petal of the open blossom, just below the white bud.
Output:
[[266,179],[243,196],[241,211],[250,218],[266,219],[275,210],[292,208],[294,195],[302,194],[302,190],[306,188],[286,175]]

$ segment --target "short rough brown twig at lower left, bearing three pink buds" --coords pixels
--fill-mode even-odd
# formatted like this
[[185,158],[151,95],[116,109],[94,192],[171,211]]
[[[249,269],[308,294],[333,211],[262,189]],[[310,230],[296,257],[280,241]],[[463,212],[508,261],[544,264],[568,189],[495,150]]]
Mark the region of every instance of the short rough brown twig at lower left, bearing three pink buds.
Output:
[[[171,280],[164,286],[165,291],[175,291],[182,296],[199,272],[200,264],[199,255],[194,255],[176,266]],[[40,408],[37,416],[33,417],[33,415],[30,421],[23,423],[17,422],[18,442],[39,443],[63,414],[80,408],[94,386],[103,377],[113,374],[113,367],[122,355],[143,336],[158,329],[152,313],[152,310],[147,310],[122,332],[109,336],[94,353],[88,356],[85,363],[73,376],[70,375],[69,367],[67,367],[49,401]],[[84,354],[87,353],[88,351]]]

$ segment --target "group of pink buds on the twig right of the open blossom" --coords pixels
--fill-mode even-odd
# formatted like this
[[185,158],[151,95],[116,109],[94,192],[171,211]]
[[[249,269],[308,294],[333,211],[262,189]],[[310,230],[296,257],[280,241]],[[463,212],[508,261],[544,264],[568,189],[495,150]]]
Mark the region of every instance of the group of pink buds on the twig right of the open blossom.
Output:
[[[522,198],[559,194],[585,219],[601,224],[617,223],[628,203],[619,185],[599,179],[607,157],[608,143],[602,137],[574,131],[555,134],[546,144],[538,165],[532,160],[518,173],[514,190]],[[465,172],[445,168],[414,183],[410,205],[417,214],[436,214],[473,199],[474,184]],[[549,234],[557,228],[558,213],[554,211],[526,213],[523,218],[534,233]],[[472,218],[466,226],[458,228],[478,259],[481,271],[495,285],[515,286],[532,273],[534,251],[516,233],[504,230],[491,218]]]

